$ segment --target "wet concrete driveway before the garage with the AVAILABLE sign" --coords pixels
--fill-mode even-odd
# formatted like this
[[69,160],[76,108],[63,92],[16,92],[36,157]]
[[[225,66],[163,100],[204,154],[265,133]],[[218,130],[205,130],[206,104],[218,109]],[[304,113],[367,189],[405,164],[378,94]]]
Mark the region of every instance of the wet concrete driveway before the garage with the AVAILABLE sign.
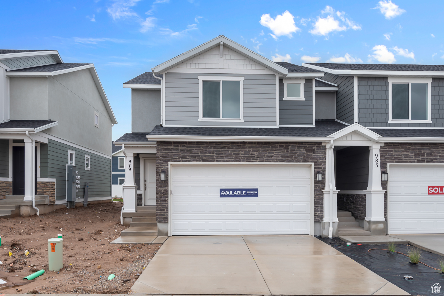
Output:
[[169,237],[133,294],[409,295],[312,236]]

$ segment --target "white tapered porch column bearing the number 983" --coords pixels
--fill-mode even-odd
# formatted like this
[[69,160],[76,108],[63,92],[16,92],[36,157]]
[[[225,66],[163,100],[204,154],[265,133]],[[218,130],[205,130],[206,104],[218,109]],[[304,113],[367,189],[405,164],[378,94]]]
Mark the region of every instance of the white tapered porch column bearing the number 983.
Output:
[[364,229],[371,231],[372,235],[384,235],[384,193],[381,185],[381,158],[379,149],[381,145],[374,144],[369,147],[369,186],[366,193],[366,210]]

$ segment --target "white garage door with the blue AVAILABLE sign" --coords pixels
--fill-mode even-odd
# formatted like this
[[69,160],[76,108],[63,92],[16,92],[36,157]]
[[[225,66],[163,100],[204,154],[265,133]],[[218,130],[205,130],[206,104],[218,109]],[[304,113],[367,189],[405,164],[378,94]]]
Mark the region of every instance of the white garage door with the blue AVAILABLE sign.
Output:
[[[294,164],[172,165],[171,235],[309,234],[311,171]],[[236,189],[257,189],[258,197],[221,197],[245,191]]]

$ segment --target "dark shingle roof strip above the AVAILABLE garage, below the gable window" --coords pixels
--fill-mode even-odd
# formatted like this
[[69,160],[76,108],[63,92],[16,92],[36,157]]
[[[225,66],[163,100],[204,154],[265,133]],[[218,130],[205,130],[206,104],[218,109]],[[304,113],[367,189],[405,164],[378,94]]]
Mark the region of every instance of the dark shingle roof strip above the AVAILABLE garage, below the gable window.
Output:
[[186,127],[155,126],[150,135],[177,136],[241,136],[241,137],[325,137],[341,130],[345,124],[334,120],[318,120],[316,127]]

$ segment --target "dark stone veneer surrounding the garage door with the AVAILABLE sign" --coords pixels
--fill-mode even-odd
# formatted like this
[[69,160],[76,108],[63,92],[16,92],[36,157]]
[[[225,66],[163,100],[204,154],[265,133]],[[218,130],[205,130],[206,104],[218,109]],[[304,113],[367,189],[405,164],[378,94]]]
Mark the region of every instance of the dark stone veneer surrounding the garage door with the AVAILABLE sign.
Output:
[[[160,170],[168,162],[313,162],[314,172],[325,176],[325,146],[295,142],[157,142],[156,220],[168,222],[168,179],[160,181]],[[168,175],[168,174],[167,174]],[[314,221],[323,215],[325,178],[314,181]]]

